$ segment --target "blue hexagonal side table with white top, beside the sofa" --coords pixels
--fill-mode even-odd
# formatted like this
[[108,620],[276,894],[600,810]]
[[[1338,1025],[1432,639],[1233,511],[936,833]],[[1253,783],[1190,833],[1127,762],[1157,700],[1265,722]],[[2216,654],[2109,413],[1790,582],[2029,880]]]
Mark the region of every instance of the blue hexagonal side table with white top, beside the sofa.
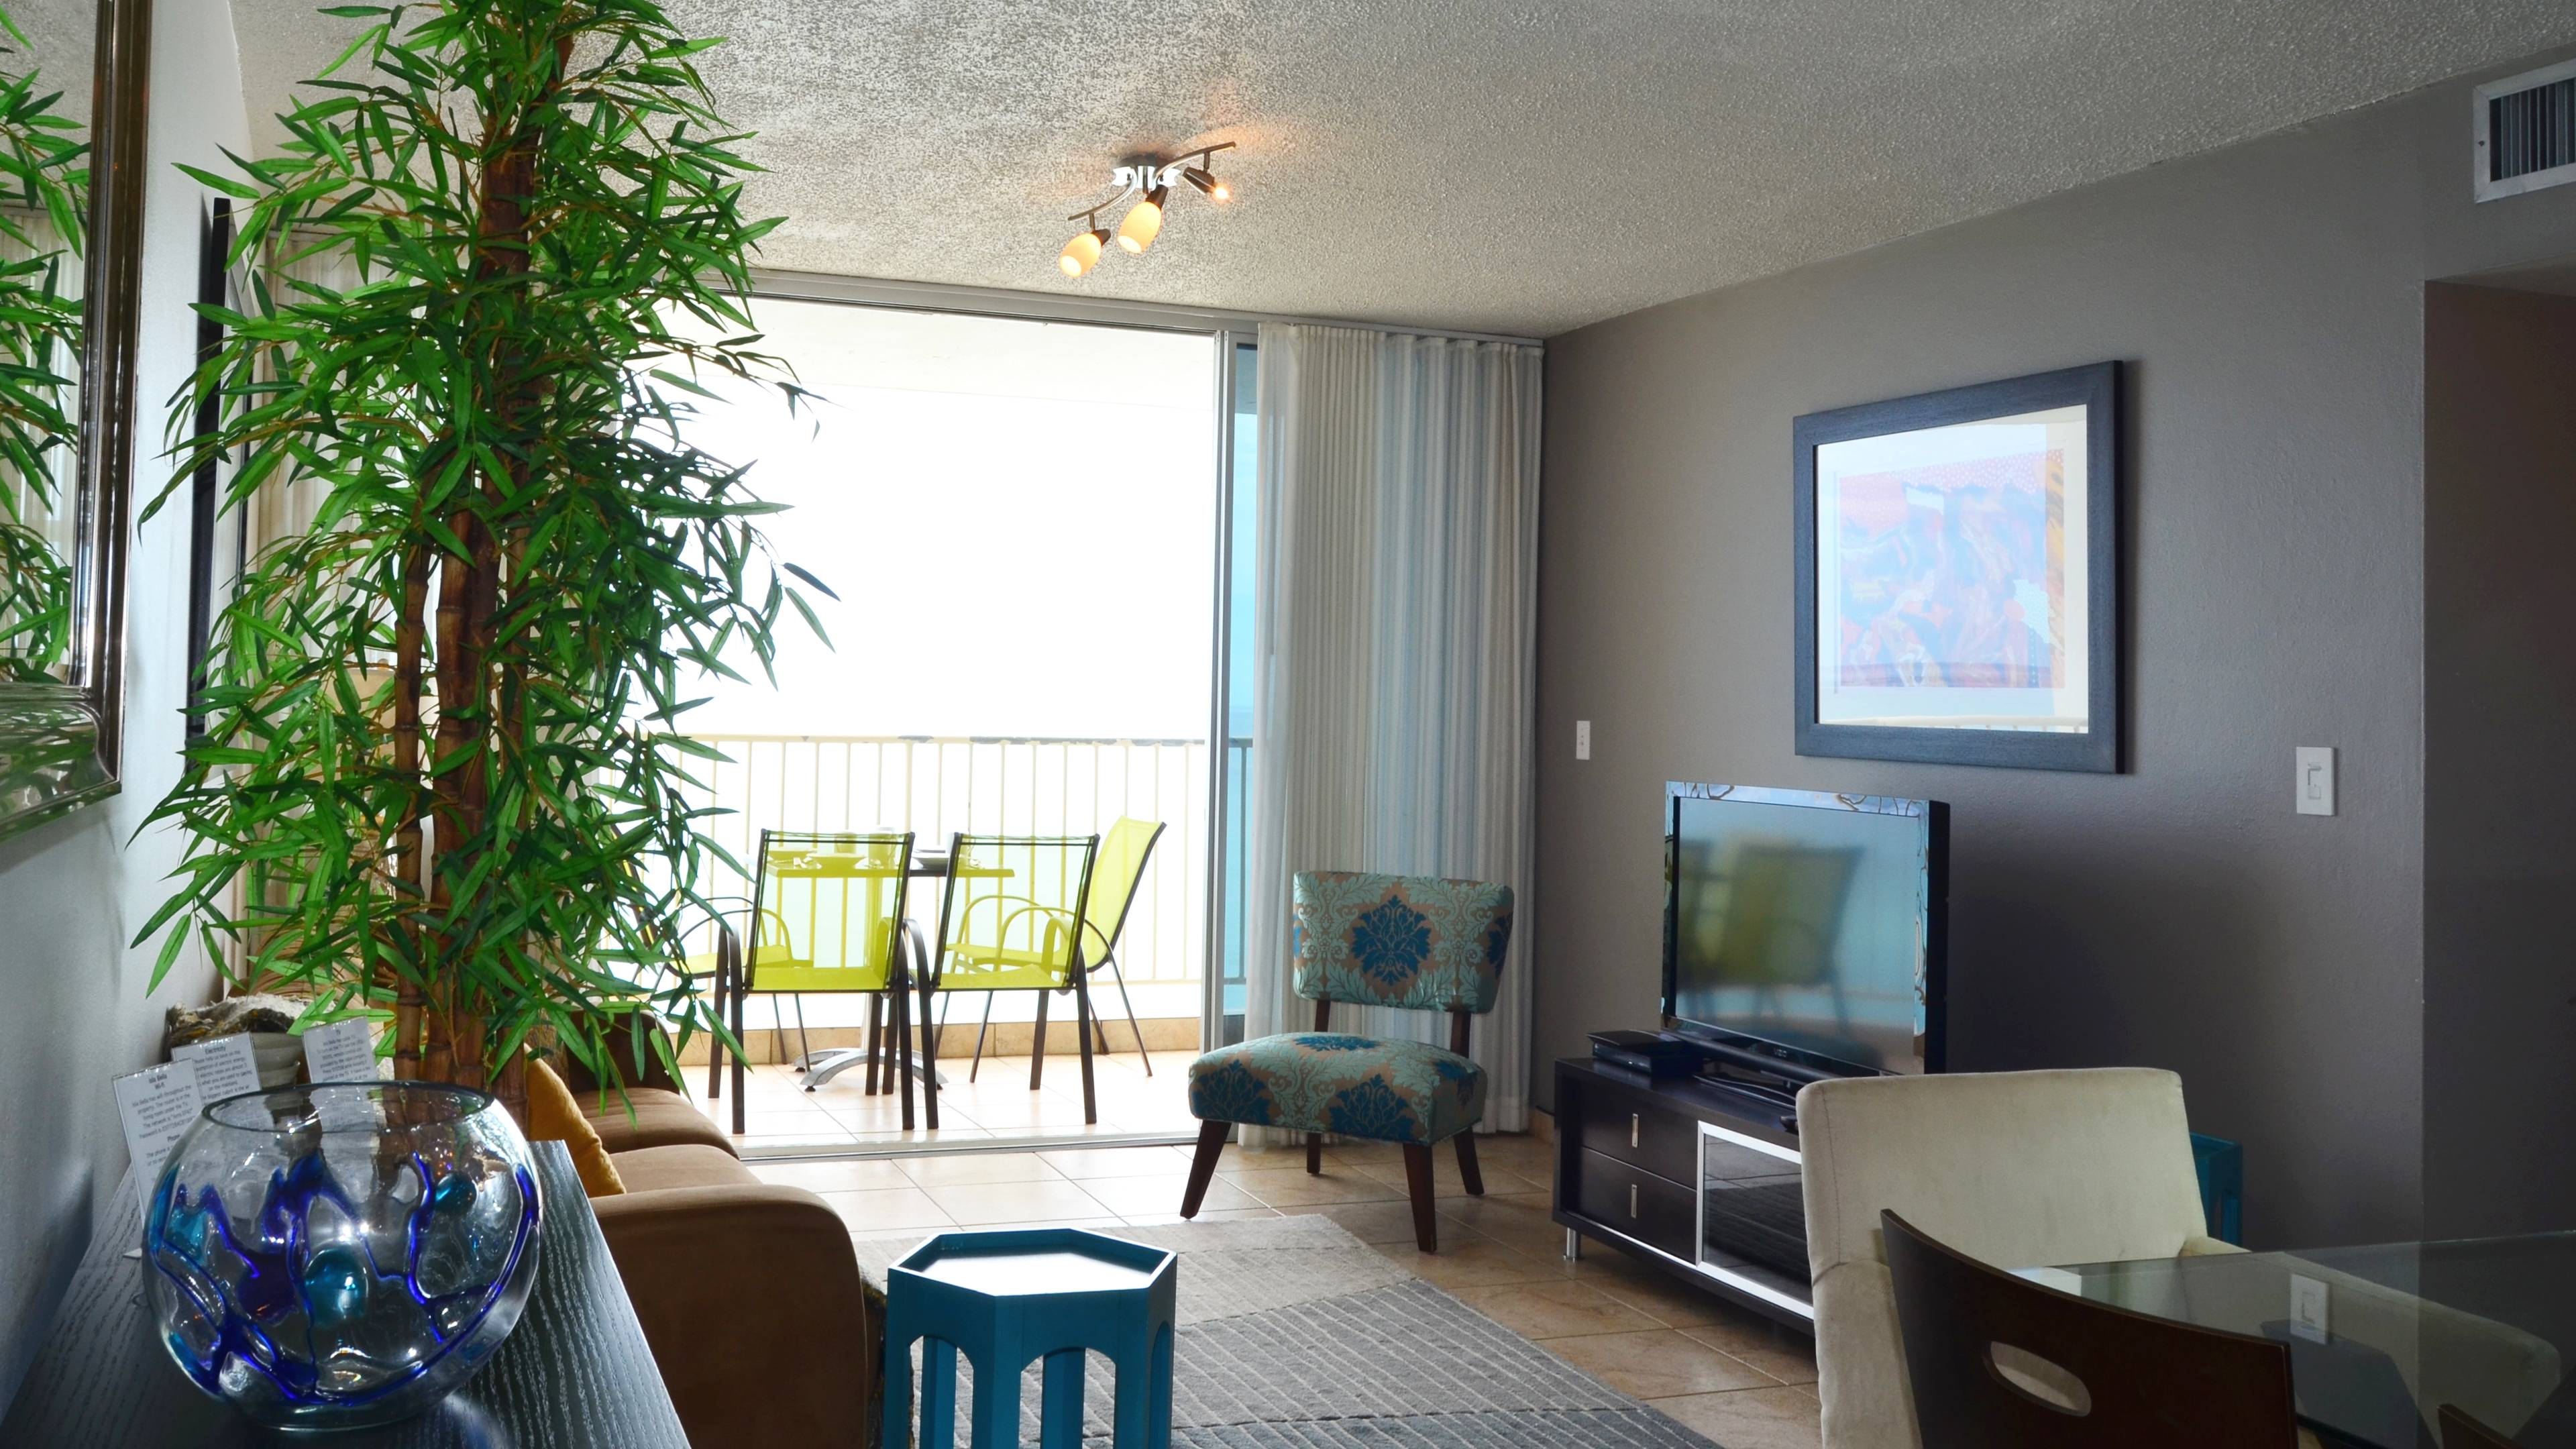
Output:
[[[1082,1359],[1118,1366],[1113,1449],[1172,1444],[1180,1258],[1079,1227],[943,1232],[886,1271],[889,1449],[956,1444],[958,1354],[974,1364],[974,1449],[1020,1444],[1020,1372],[1046,1359],[1038,1446],[1082,1449]],[[912,1346],[922,1343],[912,1439]]]

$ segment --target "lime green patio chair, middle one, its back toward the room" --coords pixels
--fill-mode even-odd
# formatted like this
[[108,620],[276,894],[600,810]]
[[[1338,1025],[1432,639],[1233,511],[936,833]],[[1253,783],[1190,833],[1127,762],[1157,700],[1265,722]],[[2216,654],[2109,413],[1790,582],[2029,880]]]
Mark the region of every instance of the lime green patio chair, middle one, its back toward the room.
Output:
[[[1038,1091],[1046,1073],[1046,998],[1072,990],[1082,1042],[1082,1122],[1100,1122],[1092,1091],[1092,993],[1084,969],[1095,938],[1084,926],[1084,908],[1097,853],[1100,835],[953,835],[948,890],[940,895],[938,964],[922,980],[922,1021],[933,1016],[935,990],[1038,993],[1028,1091]],[[930,1083],[938,1080],[938,1034],[922,1034],[922,1075]],[[930,1127],[938,1127],[938,1088],[927,1091]]]

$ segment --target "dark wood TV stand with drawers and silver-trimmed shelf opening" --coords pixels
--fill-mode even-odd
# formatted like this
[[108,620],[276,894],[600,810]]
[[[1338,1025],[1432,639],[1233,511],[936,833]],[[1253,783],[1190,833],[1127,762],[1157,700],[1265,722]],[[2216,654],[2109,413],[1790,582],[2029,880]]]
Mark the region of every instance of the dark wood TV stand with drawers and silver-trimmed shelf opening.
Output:
[[1788,1104],[1700,1078],[1556,1062],[1556,1201],[1566,1256],[1600,1238],[1775,1323],[1816,1330]]

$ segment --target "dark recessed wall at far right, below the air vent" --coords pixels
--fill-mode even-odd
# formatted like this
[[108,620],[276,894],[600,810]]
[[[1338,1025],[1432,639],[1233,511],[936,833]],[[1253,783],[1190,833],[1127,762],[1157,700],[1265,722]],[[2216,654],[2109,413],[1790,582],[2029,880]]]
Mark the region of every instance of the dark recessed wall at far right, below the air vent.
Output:
[[2424,291],[2424,1222],[2576,1227],[2576,297]]

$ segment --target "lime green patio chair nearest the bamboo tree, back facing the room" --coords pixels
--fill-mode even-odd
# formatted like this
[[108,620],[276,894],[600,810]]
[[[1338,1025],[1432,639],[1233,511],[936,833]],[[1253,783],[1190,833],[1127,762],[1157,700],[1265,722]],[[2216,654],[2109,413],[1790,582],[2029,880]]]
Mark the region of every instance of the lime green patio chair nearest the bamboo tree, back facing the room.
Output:
[[[762,830],[752,877],[750,946],[732,990],[734,1039],[742,1039],[742,998],[793,995],[799,1044],[806,1052],[806,1091],[822,1085],[860,1052],[814,1052],[804,1039],[804,993],[871,995],[868,1091],[902,1091],[904,1127],[912,1127],[912,1006],[904,951],[904,897],[912,869],[912,833],[796,833]],[[884,1016],[894,1016],[886,1062]],[[775,1000],[770,1018],[778,1021]],[[889,1070],[881,1075],[878,1065]],[[742,1104],[742,1057],[734,1055],[734,1101]]]

